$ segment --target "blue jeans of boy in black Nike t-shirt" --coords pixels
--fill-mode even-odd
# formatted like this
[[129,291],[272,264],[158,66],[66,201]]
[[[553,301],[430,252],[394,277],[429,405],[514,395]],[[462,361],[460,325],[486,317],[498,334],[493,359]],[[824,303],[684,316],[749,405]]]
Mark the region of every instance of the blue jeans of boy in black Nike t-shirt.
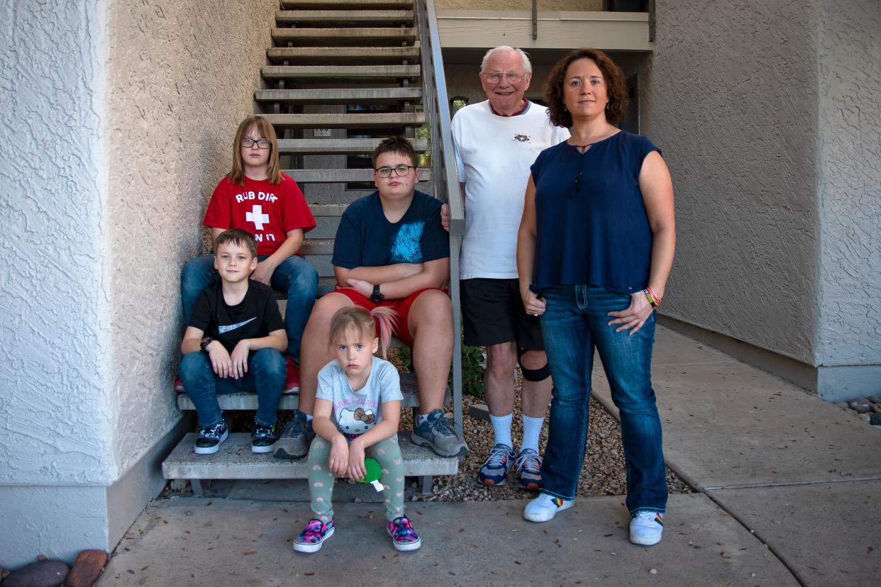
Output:
[[218,393],[257,393],[256,421],[261,426],[271,426],[278,418],[278,400],[285,388],[287,363],[276,349],[260,349],[248,356],[248,372],[245,377],[219,378],[211,369],[208,353],[198,351],[181,358],[181,383],[189,399],[196,406],[199,426],[213,426],[220,422],[223,413],[218,403]]

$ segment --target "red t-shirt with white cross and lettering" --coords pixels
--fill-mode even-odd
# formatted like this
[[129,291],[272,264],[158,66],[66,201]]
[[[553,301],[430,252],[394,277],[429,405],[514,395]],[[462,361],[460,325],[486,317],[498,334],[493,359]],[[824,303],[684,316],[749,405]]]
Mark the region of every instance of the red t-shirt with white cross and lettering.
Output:
[[285,242],[288,231],[315,228],[315,218],[297,182],[282,173],[282,181],[252,180],[238,186],[226,177],[211,195],[203,224],[212,228],[241,228],[254,235],[257,254],[270,255]]

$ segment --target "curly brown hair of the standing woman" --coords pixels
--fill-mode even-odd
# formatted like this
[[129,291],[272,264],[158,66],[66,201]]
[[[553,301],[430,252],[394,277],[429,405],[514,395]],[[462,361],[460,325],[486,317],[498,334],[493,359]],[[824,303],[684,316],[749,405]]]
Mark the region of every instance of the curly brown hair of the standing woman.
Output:
[[566,104],[563,101],[563,83],[566,70],[579,59],[592,60],[603,72],[609,96],[609,109],[605,111],[606,121],[609,121],[610,124],[618,124],[623,121],[627,114],[627,102],[629,101],[624,72],[603,51],[584,48],[567,53],[553,66],[553,70],[544,82],[544,101],[548,105],[551,123],[564,128],[572,126],[572,114],[566,110]]

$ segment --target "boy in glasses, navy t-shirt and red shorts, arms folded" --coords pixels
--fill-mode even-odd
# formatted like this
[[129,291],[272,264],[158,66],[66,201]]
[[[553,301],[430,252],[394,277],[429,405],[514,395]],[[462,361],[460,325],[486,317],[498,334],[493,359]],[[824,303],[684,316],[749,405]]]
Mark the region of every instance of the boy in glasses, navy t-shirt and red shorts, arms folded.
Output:
[[465,454],[464,441],[444,416],[443,400],[453,356],[449,237],[441,202],[416,191],[418,155],[403,137],[390,137],[373,153],[377,191],[349,206],[340,218],[333,266],[337,290],[322,297],[303,332],[300,410],[278,439],[275,456],[299,459],[315,437],[312,409],[318,371],[329,363],[331,317],[349,305],[389,306],[398,315],[396,336],[413,349],[419,417],[411,440],[437,454]]

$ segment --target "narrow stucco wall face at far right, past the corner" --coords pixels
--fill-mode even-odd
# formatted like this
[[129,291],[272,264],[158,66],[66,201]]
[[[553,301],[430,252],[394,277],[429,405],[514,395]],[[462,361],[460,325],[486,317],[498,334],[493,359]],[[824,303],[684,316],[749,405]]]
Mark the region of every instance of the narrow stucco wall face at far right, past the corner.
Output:
[[881,364],[881,4],[822,13],[817,363]]

